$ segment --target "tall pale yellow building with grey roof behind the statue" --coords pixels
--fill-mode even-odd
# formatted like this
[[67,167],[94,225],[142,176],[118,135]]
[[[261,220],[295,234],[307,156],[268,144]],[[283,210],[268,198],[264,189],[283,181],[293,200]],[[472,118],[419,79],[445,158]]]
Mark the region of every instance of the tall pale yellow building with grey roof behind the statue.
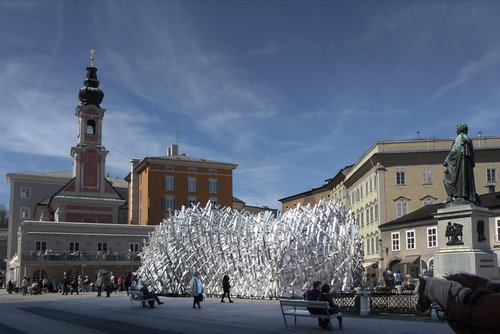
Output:
[[[472,138],[478,194],[494,191],[500,167],[500,137]],[[416,139],[375,143],[346,175],[347,206],[359,222],[368,273],[380,275],[387,262],[379,226],[446,199],[442,182],[453,139]],[[409,238],[415,237],[409,231]],[[415,245],[417,247],[418,245]],[[389,247],[390,249],[390,247]],[[399,259],[403,261],[403,259]]]

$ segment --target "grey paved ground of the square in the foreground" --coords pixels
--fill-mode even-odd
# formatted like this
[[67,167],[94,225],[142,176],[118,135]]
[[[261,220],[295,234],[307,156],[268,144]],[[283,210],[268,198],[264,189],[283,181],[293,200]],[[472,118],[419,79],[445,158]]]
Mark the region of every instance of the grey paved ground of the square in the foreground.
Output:
[[[154,309],[131,305],[125,293],[62,296],[9,295],[0,290],[0,333],[321,333],[316,319],[289,318],[285,328],[278,301],[208,298],[201,309],[191,298],[160,297]],[[339,332],[334,321],[334,332]],[[391,317],[344,316],[342,333],[453,333],[446,323]]]

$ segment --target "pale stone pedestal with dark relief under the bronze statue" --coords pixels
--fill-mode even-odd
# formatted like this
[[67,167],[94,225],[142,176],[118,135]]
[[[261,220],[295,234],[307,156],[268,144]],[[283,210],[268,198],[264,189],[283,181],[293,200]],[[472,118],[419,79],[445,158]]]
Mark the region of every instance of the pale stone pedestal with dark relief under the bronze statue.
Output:
[[[434,277],[465,271],[498,279],[497,256],[490,246],[490,215],[487,208],[459,201],[437,211],[439,251],[434,255]],[[462,226],[461,237],[446,236],[454,224]]]

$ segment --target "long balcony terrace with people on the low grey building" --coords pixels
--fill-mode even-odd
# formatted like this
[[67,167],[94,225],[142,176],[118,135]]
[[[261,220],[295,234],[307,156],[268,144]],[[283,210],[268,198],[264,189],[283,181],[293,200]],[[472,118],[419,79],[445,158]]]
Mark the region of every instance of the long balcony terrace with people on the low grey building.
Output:
[[87,251],[47,251],[23,252],[23,262],[126,262],[140,264],[141,257],[136,252],[87,252]]

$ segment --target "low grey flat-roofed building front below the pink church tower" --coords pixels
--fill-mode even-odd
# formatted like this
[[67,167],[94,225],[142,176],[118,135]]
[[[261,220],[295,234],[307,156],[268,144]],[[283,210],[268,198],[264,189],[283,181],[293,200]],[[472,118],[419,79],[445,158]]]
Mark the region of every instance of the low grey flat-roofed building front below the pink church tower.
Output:
[[55,286],[64,272],[71,277],[96,280],[99,269],[116,275],[133,272],[141,265],[138,252],[153,226],[126,224],[23,221],[18,250],[11,261],[9,279],[17,285],[23,277],[38,281],[47,277]]

